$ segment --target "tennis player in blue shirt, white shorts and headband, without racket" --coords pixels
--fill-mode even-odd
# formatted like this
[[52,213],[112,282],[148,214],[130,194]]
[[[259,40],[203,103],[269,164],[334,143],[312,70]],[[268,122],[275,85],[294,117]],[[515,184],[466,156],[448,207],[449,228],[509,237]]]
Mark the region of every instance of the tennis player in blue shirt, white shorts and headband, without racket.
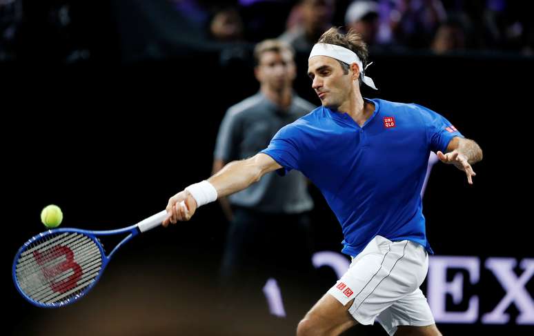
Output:
[[[420,190],[428,155],[465,172],[482,150],[444,117],[414,103],[364,99],[367,47],[359,34],[330,28],[315,44],[308,75],[322,106],[281,128],[268,148],[227,164],[168,201],[164,225],[243,190],[276,170],[299,170],[322,191],[344,234],[348,271],[297,327],[297,335],[339,335],[379,322],[389,335],[440,335],[419,286],[428,270]],[[186,202],[186,208],[179,206]]]

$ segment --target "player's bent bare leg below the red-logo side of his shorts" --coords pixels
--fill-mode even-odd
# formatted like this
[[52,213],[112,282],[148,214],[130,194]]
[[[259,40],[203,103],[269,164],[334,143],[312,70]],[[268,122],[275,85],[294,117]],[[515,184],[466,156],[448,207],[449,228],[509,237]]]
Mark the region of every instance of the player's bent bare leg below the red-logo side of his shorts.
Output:
[[357,324],[348,313],[353,301],[342,305],[332,295],[326,293],[313,306],[297,328],[297,335],[338,335]]

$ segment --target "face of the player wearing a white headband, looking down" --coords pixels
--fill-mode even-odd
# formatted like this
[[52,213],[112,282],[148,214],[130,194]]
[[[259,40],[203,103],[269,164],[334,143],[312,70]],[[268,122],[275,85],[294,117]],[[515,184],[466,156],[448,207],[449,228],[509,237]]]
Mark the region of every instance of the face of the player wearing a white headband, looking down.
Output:
[[314,56],[308,60],[308,76],[322,105],[335,110],[350,97],[353,80],[357,79],[350,70],[345,74],[336,59],[326,56]]

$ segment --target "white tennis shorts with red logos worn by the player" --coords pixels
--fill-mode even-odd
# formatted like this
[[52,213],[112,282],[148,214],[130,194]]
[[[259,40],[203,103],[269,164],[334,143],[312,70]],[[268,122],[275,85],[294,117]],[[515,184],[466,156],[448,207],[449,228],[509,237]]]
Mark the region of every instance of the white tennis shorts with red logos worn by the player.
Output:
[[393,335],[397,326],[435,323],[419,289],[427,271],[423,246],[376,236],[328,293],[343,305],[354,299],[348,312],[359,324],[374,324],[376,319]]

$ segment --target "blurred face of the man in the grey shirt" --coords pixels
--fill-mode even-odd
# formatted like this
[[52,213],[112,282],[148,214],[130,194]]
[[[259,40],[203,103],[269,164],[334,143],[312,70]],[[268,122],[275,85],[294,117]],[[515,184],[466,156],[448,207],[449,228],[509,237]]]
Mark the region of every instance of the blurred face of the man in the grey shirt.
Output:
[[259,83],[267,85],[271,90],[280,91],[291,87],[296,76],[293,55],[286,50],[266,51],[261,54],[255,73]]

